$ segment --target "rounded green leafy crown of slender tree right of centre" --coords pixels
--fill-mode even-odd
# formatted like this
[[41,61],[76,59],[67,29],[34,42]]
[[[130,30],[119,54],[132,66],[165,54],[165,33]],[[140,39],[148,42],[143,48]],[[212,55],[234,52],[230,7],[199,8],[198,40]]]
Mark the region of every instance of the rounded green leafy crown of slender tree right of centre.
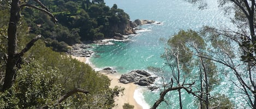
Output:
[[189,73],[193,68],[192,66],[192,53],[195,52],[193,49],[204,49],[205,43],[202,37],[193,30],[180,30],[178,34],[174,35],[168,40],[168,45],[174,54],[178,54],[179,60],[184,72]]

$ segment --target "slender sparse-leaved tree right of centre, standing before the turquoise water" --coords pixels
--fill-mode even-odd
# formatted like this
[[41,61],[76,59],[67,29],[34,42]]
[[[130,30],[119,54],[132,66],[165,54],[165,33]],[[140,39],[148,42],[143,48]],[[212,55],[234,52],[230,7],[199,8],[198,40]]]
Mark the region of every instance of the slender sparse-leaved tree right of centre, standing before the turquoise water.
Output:
[[[206,55],[204,53],[206,43],[197,32],[180,30],[167,43],[162,57],[166,61],[165,65],[170,68],[171,80],[168,81],[169,84],[163,82],[164,90],[151,108],[156,108],[160,102],[167,100],[164,99],[164,96],[170,91],[178,91],[180,108],[183,108],[182,89],[199,99],[200,108],[220,107],[221,102],[231,104],[228,99],[223,99],[227,101],[216,100],[213,95],[210,95],[213,85],[218,84],[216,66],[210,59],[203,58]],[[197,54],[198,57],[194,57],[193,54]],[[192,69],[199,70],[199,74],[192,72]],[[186,81],[185,75],[187,75],[186,78],[193,78],[193,80],[198,81]],[[228,106],[226,104],[222,105],[222,107]]]

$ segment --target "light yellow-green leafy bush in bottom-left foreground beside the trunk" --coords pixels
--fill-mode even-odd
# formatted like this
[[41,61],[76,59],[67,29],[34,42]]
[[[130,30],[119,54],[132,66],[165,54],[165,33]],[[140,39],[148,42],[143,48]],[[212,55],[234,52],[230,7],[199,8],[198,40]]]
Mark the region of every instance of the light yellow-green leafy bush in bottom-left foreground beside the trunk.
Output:
[[61,95],[61,75],[55,69],[44,69],[37,61],[23,65],[17,77],[14,88],[20,108],[53,105]]

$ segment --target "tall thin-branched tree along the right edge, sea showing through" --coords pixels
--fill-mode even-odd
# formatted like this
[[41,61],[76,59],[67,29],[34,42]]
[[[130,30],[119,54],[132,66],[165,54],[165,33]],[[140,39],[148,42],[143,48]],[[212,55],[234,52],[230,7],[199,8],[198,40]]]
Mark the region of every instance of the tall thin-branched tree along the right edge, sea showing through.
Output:
[[[201,0],[195,2],[202,2]],[[255,36],[255,1],[254,0],[221,0],[218,1],[219,6],[227,13],[229,10],[235,11],[235,17],[232,22],[237,26],[236,30],[229,28],[212,28],[205,27],[204,34],[211,36],[214,41],[215,53],[222,55],[228,59],[223,61],[223,57],[207,56],[204,58],[211,59],[233,70],[238,84],[236,86],[241,89],[241,92],[246,95],[247,102],[251,108],[256,108],[256,36]],[[224,40],[225,39],[225,40]],[[225,43],[224,43],[225,42]],[[236,43],[239,47],[239,52],[235,48],[227,46],[227,43]],[[217,50],[219,49],[219,50]],[[221,52],[221,53],[217,53]],[[234,52],[239,54],[240,61],[234,59]],[[239,70],[239,69],[246,70]]]

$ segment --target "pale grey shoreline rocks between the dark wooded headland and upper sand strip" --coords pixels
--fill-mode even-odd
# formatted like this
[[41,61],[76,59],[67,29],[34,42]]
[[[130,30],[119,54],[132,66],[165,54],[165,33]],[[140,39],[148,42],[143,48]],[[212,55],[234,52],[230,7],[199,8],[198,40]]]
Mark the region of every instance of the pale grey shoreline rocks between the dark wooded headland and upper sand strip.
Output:
[[68,54],[78,57],[90,57],[93,52],[87,50],[87,48],[92,47],[87,46],[86,44],[74,44],[74,46],[72,46],[72,48],[68,50]]

